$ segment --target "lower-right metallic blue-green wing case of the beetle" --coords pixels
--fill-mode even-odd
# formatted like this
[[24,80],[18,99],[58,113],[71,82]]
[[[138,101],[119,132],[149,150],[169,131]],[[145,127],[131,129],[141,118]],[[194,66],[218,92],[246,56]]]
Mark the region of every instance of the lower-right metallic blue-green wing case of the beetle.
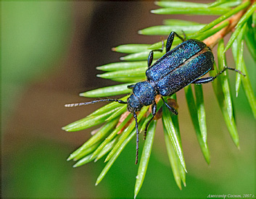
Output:
[[212,69],[214,62],[212,51],[193,56],[155,84],[161,96],[170,96],[205,75]]

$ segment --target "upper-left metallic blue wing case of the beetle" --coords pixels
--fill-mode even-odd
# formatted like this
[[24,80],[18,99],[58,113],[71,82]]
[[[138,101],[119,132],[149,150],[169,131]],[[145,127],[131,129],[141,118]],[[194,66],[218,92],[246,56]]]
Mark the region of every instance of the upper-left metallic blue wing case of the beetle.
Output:
[[155,62],[152,67],[146,70],[146,77],[149,81],[156,82],[168,75],[173,69],[186,62],[191,56],[199,53],[205,48],[205,43],[195,39],[189,39],[168,51],[164,56]]

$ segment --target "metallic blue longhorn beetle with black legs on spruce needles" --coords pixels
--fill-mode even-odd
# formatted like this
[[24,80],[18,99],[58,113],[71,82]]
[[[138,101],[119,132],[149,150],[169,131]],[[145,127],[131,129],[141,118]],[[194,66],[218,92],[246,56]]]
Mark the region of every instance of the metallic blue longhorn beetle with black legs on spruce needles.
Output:
[[[183,41],[181,44],[170,50],[174,36]],[[173,106],[168,105],[163,96],[171,96],[173,93],[178,92],[182,88],[186,87],[191,83],[193,84],[204,84],[207,82],[212,82],[218,75],[223,73],[226,69],[232,69],[236,72],[239,70],[224,67],[217,75],[214,77],[202,77],[211,69],[213,69],[214,56],[210,47],[208,47],[204,42],[196,39],[185,39],[178,35],[176,32],[171,32],[168,36],[165,46],[165,54],[152,64],[154,51],[163,51],[162,49],[155,49],[150,51],[148,56],[148,69],[146,70],[146,80],[143,82],[137,82],[135,85],[128,85],[128,88],[133,90],[131,96],[127,98],[127,101],[121,101],[118,99],[100,99],[96,101],[89,101],[85,103],[70,103],[66,104],[66,107],[88,105],[92,103],[97,103],[101,101],[115,101],[117,103],[127,103],[128,111],[133,114],[136,122],[136,162],[138,163],[139,156],[139,130],[136,111],[140,111],[143,106],[152,105],[152,117],[146,123],[144,131],[144,139],[146,138],[146,131],[149,127],[150,122],[154,119],[157,113],[157,103],[155,98],[160,95],[165,106],[173,114],[178,114]]]

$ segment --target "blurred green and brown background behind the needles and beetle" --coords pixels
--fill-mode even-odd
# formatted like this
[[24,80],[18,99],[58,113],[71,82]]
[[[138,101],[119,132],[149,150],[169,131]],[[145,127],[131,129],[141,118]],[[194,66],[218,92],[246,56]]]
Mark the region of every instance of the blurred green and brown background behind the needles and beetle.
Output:
[[[154,43],[159,36],[137,31],[160,25],[165,15],[150,14],[153,2],[1,2],[1,166],[2,196],[102,198],[133,197],[138,166],[133,140],[95,187],[102,161],[73,169],[66,158],[90,137],[90,130],[64,132],[61,127],[85,117],[100,104],[65,109],[84,101],[78,93],[115,82],[95,77],[96,66],[118,62],[110,51],[124,43]],[[210,22],[216,17],[173,15]],[[230,52],[229,52],[229,55]],[[245,52],[255,90],[255,63]],[[234,65],[229,58],[228,64]],[[234,91],[234,75],[231,88]],[[158,125],[152,157],[139,197],[207,197],[255,194],[255,120],[243,91],[234,97],[240,136],[238,150],[223,122],[212,85],[203,86],[211,164],[200,151],[183,91],[178,92],[179,121],[188,174],[178,190]],[[234,92],[233,92],[234,93]],[[142,139],[141,139],[142,140]],[[140,142],[142,148],[143,141]]]

